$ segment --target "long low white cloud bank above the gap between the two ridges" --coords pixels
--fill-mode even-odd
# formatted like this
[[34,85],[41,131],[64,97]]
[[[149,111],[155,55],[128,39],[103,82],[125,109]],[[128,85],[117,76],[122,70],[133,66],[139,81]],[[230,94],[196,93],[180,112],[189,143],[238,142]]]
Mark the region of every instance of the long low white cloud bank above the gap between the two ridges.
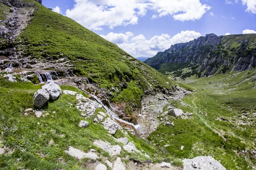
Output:
[[[115,36],[116,39],[114,39],[113,37],[110,37],[108,35],[102,35],[102,37],[111,42],[117,42],[119,40],[118,36]],[[118,35],[120,36],[120,34]],[[122,34],[121,37],[125,36],[126,34]],[[120,41],[124,43],[117,43],[117,45],[134,57],[153,57],[157,54],[157,52],[164,51],[165,49],[170,48],[170,46],[173,44],[188,42],[200,36],[201,34],[195,31],[181,31],[173,37],[171,37],[169,34],[162,34],[160,36],[154,36],[150,40],[147,40],[143,34],[140,34],[137,36],[131,36],[128,38],[128,40],[124,38],[125,40]]]

